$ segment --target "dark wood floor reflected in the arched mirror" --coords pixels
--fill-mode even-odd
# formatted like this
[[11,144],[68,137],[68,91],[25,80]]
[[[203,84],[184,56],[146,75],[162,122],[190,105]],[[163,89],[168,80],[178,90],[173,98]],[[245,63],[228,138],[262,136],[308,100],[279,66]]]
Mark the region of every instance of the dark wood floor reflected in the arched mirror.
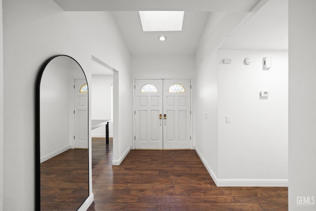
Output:
[[89,196],[88,151],[69,149],[40,164],[40,210],[74,211]]

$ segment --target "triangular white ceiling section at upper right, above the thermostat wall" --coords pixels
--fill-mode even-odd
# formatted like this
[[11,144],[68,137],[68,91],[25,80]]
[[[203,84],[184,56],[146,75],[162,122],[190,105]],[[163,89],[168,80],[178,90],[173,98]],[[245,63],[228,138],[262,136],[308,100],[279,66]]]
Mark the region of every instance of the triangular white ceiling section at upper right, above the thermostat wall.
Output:
[[288,0],[269,0],[221,49],[288,49]]

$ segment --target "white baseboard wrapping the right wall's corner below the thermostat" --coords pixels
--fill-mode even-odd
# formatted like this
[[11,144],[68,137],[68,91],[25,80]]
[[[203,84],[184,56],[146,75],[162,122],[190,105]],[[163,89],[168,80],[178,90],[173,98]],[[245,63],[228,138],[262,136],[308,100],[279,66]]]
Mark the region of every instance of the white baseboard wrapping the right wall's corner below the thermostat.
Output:
[[214,171],[208,166],[197,147],[196,152],[215,184],[219,187],[288,187],[288,179],[219,179]]

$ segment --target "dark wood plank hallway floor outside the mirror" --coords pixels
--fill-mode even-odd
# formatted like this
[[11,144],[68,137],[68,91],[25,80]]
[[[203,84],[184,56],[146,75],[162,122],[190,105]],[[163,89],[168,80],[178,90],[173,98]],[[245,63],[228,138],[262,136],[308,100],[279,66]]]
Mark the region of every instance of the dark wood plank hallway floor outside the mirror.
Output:
[[112,139],[92,139],[88,211],[287,211],[286,187],[217,187],[194,150],[131,150],[112,166]]

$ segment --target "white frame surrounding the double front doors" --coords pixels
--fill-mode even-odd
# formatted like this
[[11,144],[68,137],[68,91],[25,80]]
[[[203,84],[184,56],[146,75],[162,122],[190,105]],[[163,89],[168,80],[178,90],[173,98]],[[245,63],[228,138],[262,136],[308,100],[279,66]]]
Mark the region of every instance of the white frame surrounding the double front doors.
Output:
[[191,149],[195,149],[195,139],[193,137],[193,89],[194,89],[194,84],[193,84],[193,77],[133,77],[133,137],[132,137],[132,149],[135,149],[135,135],[136,135],[136,118],[135,118],[135,111],[136,111],[136,102],[135,102],[135,80],[138,79],[143,79],[143,80],[163,80],[163,79],[173,79],[173,80],[181,80],[181,79],[187,79],[191,81],[191,88],[190,88],[190,106],[191,106],[191,123],[190,123],[190,133],[191,133]]

